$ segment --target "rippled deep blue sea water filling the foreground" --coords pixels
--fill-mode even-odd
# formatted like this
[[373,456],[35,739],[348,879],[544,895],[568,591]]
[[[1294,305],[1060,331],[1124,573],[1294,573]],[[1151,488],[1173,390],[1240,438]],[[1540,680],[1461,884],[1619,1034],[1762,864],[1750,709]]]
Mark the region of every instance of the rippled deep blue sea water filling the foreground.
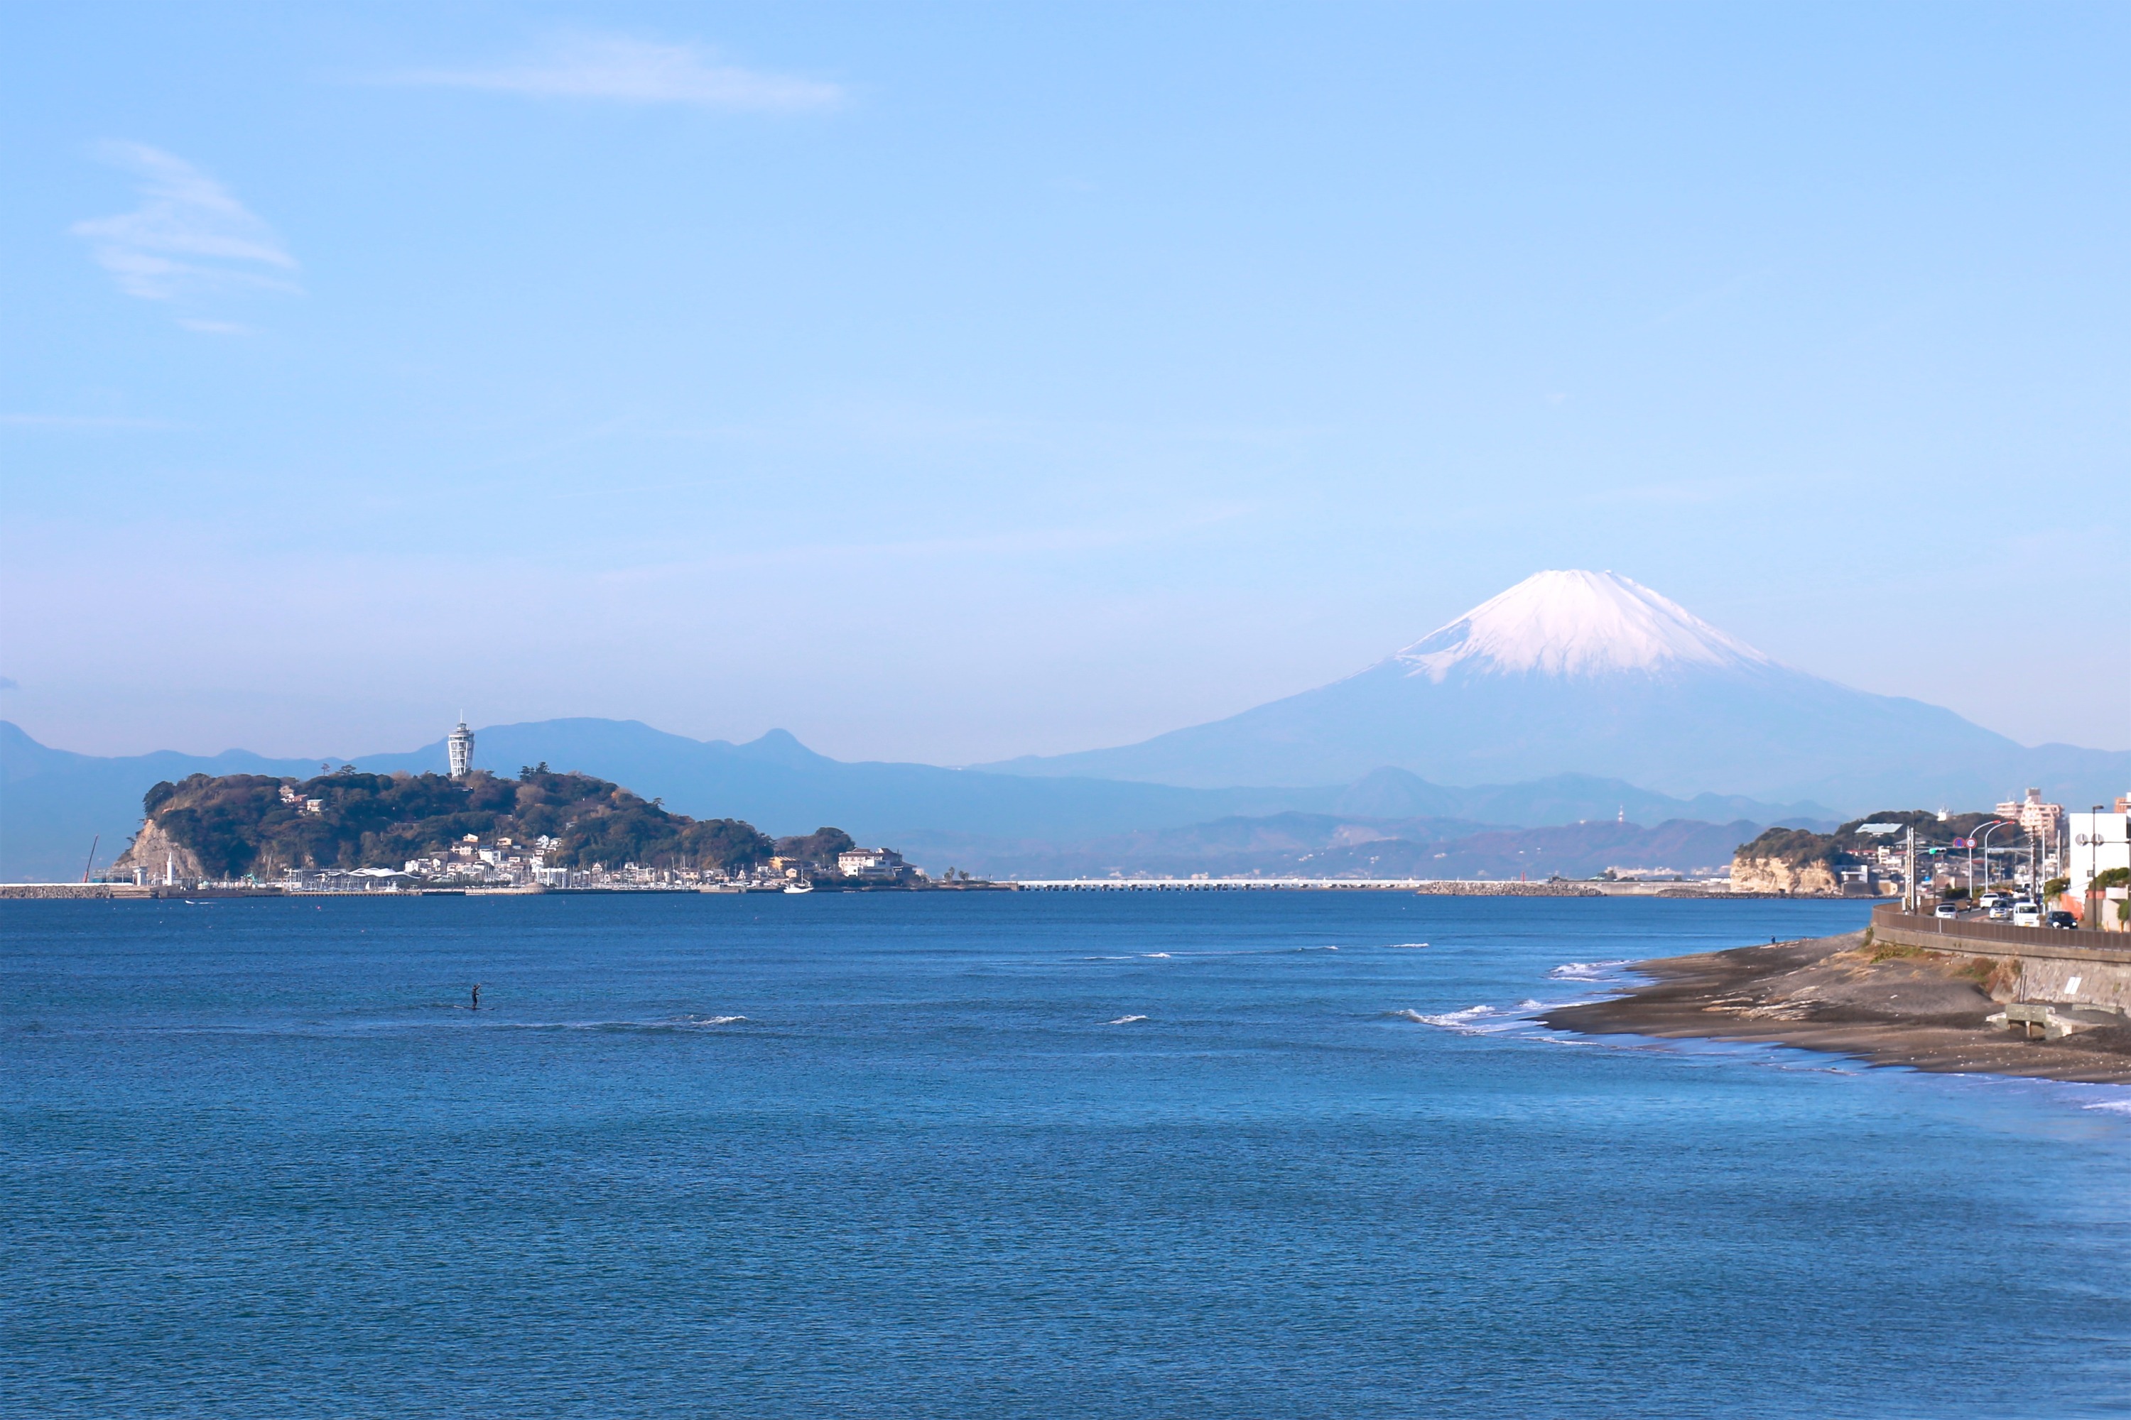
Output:
[[2131,1092],[1519,1016],[1860,911],[0,903],[0,1414],[2131,1414]]

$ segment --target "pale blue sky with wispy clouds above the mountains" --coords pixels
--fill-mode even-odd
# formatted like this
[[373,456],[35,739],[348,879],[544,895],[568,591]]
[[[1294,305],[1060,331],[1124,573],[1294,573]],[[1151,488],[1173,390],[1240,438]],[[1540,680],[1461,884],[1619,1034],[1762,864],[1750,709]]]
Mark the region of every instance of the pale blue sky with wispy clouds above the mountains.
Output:
[[1592,566],[2131,745],[2120,4],[0,26],[47,743],[976,762]]

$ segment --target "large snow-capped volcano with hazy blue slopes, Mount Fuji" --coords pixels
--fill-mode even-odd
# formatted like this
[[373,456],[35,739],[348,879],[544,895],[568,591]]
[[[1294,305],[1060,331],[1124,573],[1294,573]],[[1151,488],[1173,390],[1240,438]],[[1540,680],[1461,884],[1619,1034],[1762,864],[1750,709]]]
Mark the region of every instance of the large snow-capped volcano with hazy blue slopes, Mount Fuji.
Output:
[[2027,747],[1775,662],[1615,573],[1539,573],[1332,686],[1138,745],[987,769],[1193,788],[1603,775],[1666,794],[1988,805],[2131,788],[2131,754]]

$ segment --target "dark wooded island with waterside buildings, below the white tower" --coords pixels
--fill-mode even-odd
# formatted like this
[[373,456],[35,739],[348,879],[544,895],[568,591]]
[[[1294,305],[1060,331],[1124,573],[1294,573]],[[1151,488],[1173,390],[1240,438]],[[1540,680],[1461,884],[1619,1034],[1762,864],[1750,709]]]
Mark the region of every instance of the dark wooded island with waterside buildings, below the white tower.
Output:
[[840,828],[771,839],[735,818],[669,813],[616,783],[546,764],[516,779],[471,771],[373,775],[354,769],[294,781],[192,775],[143,798],[145,822],[115,877],[271,881],[303,871],[405,871],[456,860],[526,869],[744,875],[788,860],[833,875],[852,847]]

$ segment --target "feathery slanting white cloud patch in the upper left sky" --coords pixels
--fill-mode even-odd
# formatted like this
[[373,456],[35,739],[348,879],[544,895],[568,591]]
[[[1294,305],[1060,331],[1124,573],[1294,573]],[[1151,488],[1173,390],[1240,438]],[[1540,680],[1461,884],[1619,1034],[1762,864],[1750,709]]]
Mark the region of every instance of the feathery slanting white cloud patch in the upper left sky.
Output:
[[[183,158],[145,143],[104,143],[98,158],[141,183],[141,207],[77,221],[90,255],[119,290],[141,300],[198,300],[228,290],[296,292],[296,258],[230,189]],[[188,319],[230,334],[228,321]]]

